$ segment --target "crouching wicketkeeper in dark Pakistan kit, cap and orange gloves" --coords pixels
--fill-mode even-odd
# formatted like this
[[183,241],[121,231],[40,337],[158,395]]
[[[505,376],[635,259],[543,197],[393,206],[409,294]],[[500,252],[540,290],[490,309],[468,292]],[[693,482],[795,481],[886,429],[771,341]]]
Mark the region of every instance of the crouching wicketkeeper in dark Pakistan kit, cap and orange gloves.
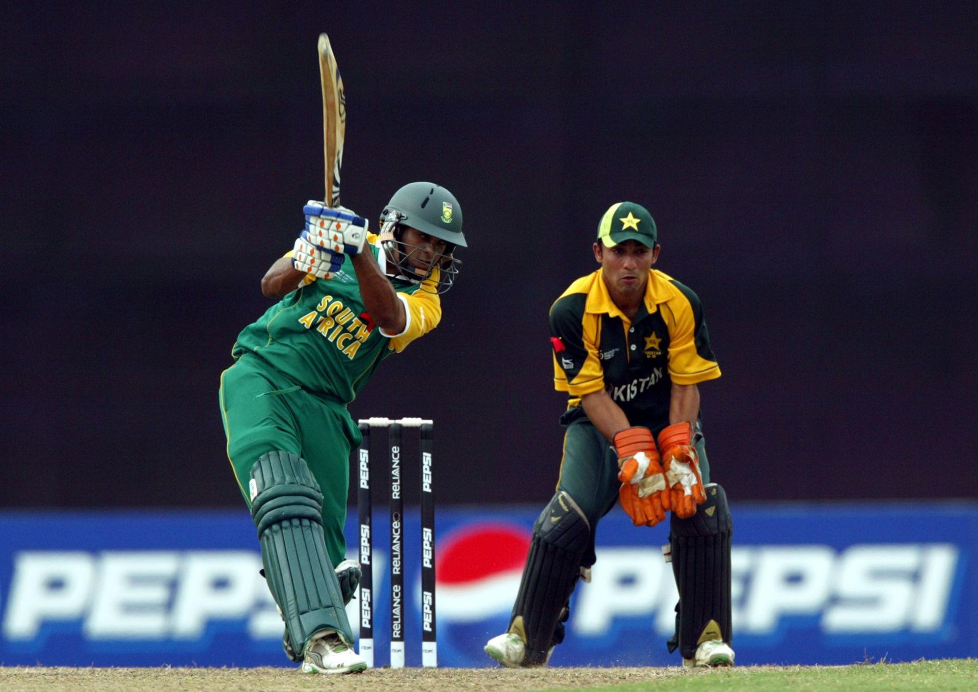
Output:
[[698,385],[720,377],[695,293],[653,265],[661,247],[640,205],[605,211],[581,277],[550,311],[556,390],[567,392],[556,494],[537,518],[509,629],[485,651],[509,668],[546,666],[564,638],[595,531],[616,502],[636,527],[669,519],[684,665],[732,666],[732,521],[710,483]]

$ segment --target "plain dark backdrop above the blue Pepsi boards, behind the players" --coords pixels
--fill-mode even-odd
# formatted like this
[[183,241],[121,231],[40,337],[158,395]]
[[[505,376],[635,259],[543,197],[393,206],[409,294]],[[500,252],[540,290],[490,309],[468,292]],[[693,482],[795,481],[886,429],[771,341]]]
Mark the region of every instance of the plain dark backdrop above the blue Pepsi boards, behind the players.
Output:
[[323,195],[447,186],[442,325],[354,416],[436,421],[442,502],[552,493],[547,311],[601,213],[659,226],[724,372],[732,498],[974,497],[974,3],[4,3],[0,506],[240,507],[217,403]]

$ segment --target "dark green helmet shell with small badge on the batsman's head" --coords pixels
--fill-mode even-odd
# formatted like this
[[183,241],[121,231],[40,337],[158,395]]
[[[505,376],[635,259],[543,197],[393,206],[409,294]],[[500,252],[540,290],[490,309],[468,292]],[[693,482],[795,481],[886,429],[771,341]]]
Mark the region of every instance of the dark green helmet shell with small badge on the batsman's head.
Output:
[[[391,218],[396,212],[396,218]],[[467,248],[462,235],[462,207],[455,195],[434,183],[408,183],[383,208],[380,224],[393,220],[446,243]]]

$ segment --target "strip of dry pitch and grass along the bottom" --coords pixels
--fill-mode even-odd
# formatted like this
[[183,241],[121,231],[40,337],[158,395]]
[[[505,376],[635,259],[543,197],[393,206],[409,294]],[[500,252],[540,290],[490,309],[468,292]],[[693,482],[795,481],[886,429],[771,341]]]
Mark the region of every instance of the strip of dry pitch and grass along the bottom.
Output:
[[374,669],[359,675],[303,675],[297,669],[0,668],[0,690],[52,692],[937,692],[978,690],[978,659],[858,666],[733,669],[551,668]]

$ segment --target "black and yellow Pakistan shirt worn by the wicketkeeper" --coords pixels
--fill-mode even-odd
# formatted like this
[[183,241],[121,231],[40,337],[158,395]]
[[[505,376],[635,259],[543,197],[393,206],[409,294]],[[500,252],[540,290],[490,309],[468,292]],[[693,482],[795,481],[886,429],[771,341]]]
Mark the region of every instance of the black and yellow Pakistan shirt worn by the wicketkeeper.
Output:
[[556,300],[550,326],[554,384],[569,395],[566,423],[585,415],[582,396],[606,390],[632,425],[654,430],[669,422],[672,383],[720,377],[696,294],[655,269],[633,319],[611,300],[599,269]]

